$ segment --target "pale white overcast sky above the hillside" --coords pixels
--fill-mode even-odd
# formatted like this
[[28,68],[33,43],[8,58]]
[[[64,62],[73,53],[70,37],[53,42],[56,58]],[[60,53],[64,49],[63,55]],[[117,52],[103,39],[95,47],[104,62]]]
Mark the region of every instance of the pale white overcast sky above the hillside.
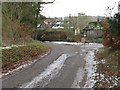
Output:
[[[54,1],[54,0],[43,0]],[[120,0],[55,0],[54,3],[44,5],[42,14],[46,17],[64,17],[85,13],[91,16],[105,16],[107,6],[115,6],[112,15],[118,11]],[[116,3],[115,3],[116,2]]]

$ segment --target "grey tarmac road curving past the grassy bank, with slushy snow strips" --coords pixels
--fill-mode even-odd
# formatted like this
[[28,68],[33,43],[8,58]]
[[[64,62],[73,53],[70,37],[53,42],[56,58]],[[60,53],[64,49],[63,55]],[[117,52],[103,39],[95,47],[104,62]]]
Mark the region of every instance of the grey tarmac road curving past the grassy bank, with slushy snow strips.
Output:
[[[46,43],[52,51],[26,68],[3,77],[3,88],[81,88],[89,81],[87,54],[98,45]],[[90,54],[89,54],[90,55]],[[91,56],[94,56],[91,54]],[[89,57],[91,58],[91,57]],[[88,66],[89,68],[89,66]],[[86,85],[87,86],[87,85]],[[89,87],[89,86],[88,86]]]

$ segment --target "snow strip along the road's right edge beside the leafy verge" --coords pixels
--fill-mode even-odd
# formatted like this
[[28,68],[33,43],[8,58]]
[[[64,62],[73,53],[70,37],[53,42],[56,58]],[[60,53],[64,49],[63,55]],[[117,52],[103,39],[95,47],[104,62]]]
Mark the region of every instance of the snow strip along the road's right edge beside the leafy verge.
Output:
[[97,70],[97,62],[95,61],[95,50],[98,51],[99,48],[103,47],[103,45],[100,43],[89,43],[88,45],[86,44],[83,47],[88,49],[88,53],[84,58],[84,60],[86,61],[85,69],[87,71],[87,82],[84,85],[84,88],[92,88],[96,83],[96,80],[94,80],[94,77],[96,76],[95,72]]

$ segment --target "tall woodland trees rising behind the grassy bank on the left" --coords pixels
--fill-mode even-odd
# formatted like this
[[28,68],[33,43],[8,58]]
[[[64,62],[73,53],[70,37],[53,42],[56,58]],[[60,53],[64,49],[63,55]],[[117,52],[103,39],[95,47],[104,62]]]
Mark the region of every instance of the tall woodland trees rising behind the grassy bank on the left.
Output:
[[[53,2],[3,2],[3,43],[16,43],[28,36],[36,39],[37,25],[45,18],[41,15],[42,4]],[[10,41],[10,42],[8,42]]]

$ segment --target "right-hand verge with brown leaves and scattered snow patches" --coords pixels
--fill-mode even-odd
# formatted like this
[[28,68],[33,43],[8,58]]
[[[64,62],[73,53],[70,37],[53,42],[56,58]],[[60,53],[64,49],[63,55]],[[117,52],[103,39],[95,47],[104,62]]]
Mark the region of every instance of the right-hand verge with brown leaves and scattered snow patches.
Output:
[[96,53],[97,75],[95,80],[95,88],[110,88],[119,87],[118,77],[120,72],[119,67],[120,50],[110,50],[108,48],[101,48]]

